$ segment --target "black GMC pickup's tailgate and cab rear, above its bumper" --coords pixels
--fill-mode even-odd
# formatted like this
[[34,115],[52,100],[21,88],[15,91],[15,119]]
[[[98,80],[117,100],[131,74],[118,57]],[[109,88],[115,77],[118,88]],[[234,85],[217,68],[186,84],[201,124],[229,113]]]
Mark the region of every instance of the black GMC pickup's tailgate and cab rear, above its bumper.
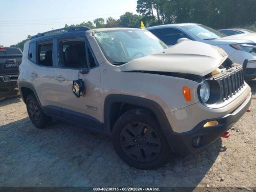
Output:
[[22,62],[22,51],[19,48],[0,47],[0,75],[18,75]]

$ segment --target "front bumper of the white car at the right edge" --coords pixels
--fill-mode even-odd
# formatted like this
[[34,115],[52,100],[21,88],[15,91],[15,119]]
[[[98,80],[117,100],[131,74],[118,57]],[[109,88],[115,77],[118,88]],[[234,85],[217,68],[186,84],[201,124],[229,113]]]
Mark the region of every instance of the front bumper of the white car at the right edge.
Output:
[[244,79],[256,78],[256,59],[246,59],[243,64]]

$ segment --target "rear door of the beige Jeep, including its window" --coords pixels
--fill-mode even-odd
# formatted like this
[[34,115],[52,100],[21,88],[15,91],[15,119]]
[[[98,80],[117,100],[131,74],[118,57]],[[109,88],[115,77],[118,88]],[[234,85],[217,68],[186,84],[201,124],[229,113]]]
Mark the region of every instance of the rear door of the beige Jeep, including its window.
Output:
[[60,109],[54,107],[58,102],[53,76],[57,64],[56,40],[30,43],[28,58],[28,82],[35,88],[44,111],[60,115]]

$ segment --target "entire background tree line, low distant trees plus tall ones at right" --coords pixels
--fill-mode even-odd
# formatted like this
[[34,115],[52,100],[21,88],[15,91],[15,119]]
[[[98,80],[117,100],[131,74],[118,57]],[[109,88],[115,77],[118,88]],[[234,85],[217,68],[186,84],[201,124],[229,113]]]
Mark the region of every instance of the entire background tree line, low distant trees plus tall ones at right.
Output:
[[[137,0],[137,12],[126,12],[120,18],[96,18],[93,22],[65,24],[64,28],[86,26],[90,28],[140,26],[145,27],[162,24],[193,22],[210,26],[215,29],[248,26],[256,23],[256,0]],[[23,51],[22,40],[11,47]]]

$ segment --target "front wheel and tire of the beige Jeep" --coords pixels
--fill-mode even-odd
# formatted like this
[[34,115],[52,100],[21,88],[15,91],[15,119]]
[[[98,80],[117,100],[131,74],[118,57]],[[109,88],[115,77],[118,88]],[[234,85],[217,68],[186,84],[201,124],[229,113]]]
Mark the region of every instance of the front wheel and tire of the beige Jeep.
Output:
[[155,169],[170,158],[171,149],[153,114],[143,108],[124,113],[114,124],[113,146],[118,156],[138,169]]

